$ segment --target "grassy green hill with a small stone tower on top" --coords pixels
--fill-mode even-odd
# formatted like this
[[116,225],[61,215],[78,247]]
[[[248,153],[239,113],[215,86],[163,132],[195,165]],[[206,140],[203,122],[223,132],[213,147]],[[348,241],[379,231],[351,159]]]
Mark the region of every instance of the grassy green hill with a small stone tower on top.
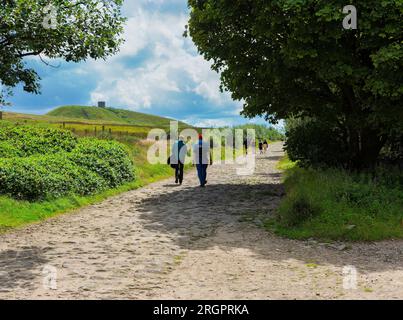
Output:
[[[150,127],[167,127],[171,121],[168,118],[129,110],[85,106],[59,107],[49,112],[47,116]],[[180,122],[180,125],[188,127],[183,122]]]

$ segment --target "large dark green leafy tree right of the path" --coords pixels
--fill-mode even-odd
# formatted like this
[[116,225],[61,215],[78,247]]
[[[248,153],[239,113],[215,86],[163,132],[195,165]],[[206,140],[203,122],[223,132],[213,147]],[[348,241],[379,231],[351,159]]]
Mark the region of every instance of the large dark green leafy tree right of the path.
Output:
[[403,1],[189,0],[193,41],[243,115],[317,118],[339,128],[361,169],[403,131]]

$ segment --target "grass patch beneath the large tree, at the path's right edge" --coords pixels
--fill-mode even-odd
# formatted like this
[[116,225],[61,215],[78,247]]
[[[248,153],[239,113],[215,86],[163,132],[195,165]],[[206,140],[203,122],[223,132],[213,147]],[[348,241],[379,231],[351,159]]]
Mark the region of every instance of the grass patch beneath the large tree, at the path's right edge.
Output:
[[341,169],[286,172],[287,195],[266,227],[295,239],[403,238],[403,176],[378,168],[352,174]]

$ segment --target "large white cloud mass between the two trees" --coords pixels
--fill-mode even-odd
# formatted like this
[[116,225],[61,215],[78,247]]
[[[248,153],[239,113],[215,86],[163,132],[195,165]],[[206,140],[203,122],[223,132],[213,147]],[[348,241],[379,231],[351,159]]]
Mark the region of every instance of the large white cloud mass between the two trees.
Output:
[[[183,38],[187,15],[149,11],[148,4],[162,5],[164,1],[127,2],[124,12],[129,18],[121,52],[106,63],[92,61],[84,66],[99,77],[90,102],[102,99],[133,110],[155,105],[166,105],[168,109],[172,108],[175,94],[194,93],[208,101],[211,108],[232,110],[238,106],[228,93],[219,91],[218,74],[197,54],[191,40]],[[139,65],[137,60],[141,61]]]

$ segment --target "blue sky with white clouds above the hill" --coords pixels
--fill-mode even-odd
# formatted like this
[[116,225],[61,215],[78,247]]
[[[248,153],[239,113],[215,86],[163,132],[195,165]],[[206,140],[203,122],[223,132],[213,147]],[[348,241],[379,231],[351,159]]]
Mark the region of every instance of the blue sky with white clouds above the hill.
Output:
[[[242,102],[219,90],[219,75],[183,32],[186,0],[126,0],[120,52],[107,61],[28,64],[41,77],[41,95],[14,90],[6,110],[44,114],[62,105],[107,105],[156,114],[196,126],[265,123],[239,115]],[[52,63],[52,62],[51,62]]]

